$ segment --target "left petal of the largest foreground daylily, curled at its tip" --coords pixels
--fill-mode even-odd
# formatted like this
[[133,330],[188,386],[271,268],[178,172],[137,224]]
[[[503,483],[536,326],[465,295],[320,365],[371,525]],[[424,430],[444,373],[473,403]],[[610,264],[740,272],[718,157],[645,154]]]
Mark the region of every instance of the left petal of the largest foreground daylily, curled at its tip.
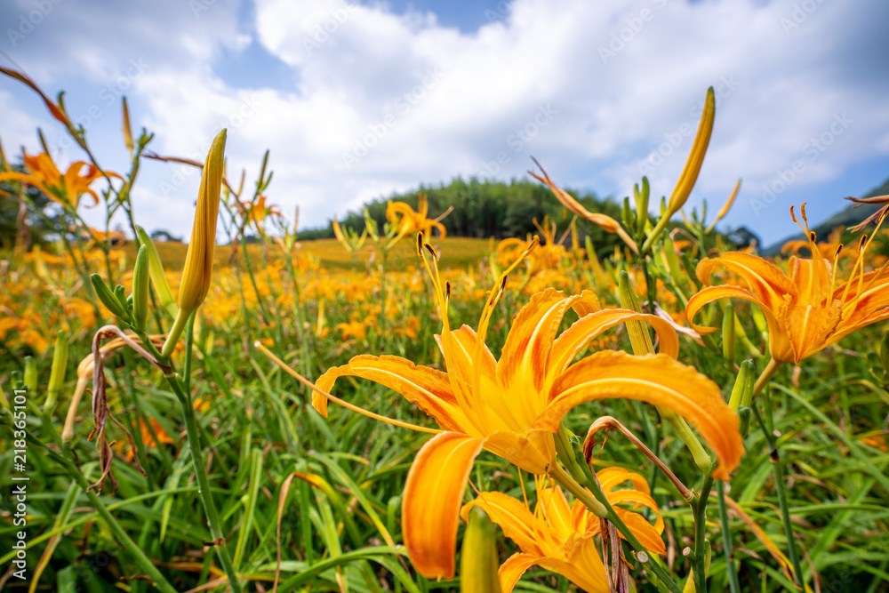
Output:
[[[414,365],[401,357],[372,357],[362,355],[348,361],[348,365],[336,366],[318,377],[318,389],[330,393],[339,377],[354,376],[380,383],[401,394],[432,416],[445,430],[467,432],[469,421],[457,405],[451,383],[445,373],[428,366]],[[312,407],[327,417],[327,398],[318,392],[312,394]]]

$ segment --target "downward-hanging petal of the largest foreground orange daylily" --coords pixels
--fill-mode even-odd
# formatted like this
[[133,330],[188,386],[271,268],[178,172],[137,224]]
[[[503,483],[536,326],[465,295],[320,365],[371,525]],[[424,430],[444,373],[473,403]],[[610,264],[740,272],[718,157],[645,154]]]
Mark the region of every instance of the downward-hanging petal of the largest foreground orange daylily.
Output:
[[482,442],[443,432],[423,445],[407,474],[401,509],[404,546],[417,572],[428,579],[453,578],[460,505]]

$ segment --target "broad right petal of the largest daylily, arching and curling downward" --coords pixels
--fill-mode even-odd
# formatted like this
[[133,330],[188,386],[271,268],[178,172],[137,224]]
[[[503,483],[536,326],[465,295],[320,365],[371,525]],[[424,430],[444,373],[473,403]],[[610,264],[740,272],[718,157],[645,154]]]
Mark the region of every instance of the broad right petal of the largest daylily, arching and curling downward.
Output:
[[532,428],[556,430],[574,406],[613,397],[649,402],[690,421],[717,455],[717,479],[727,480],[741,461],[740,420],[725,404],[717,384],[663,354],[632,357],[603,351],[584,358],[557,377],[549,405]]

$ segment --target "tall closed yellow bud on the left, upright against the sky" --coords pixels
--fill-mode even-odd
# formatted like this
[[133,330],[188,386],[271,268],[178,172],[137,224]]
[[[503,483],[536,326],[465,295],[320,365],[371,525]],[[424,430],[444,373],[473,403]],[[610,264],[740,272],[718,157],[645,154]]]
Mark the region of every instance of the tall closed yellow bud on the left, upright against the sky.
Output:
[[225,140],[226,131],[223,129],[213,140],[204,163],[201,187],[197,192],[195,223],[191,227],[191,241],[188,243],[185,267],[182,268],[179,284],[179,314],[164,344],[164,356],[172,353],[188,317],[201,306],[207,292],[210,292],[213,254],[216,252],[216,220],[220,212],[222,169],[225,164]]

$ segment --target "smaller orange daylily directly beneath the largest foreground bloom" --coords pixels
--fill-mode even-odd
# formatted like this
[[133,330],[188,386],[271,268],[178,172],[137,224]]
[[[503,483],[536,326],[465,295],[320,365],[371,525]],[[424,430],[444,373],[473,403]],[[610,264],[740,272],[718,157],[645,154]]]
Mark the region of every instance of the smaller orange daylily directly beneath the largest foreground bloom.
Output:
[[[614,511],[645,548],[655,554],[666,554],[667,548],[661,539],[664,520],[645,478],[621,468],[602,469],[597,477]],[[632,490],[615,490],[617,485],[627,481],[633,485]],[[461,510],[461,517],[466,521],[470,509],[476,506],[484,509],[493,523],[500,525],[503,534],[522,550],[501,565],[501,590],[503,593],[512,591],[522,574],[537,565],[561,574],[590,593],[610,593],[608,575],[594,539],[601,531],[602,521],[581,501],[574,501],[569,506],[561,488],[543,482],[544,478],[537,478],[537,507],[533,513],[521,501],[497,492],[480,493],[475,501]],[[629,503],[634,509],[652,509],[655,524],[631,510],[616,506],[621,503]]]

